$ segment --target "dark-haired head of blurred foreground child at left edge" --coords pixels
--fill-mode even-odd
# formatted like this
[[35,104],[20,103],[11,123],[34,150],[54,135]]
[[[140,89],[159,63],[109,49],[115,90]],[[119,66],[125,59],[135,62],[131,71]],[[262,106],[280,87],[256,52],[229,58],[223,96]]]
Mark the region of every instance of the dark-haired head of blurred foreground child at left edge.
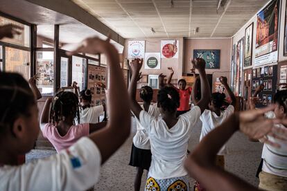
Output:
[[0,134],[12,131],[19,116],[31,117],[36,104],[28,82],[18,73],[0,73]]

